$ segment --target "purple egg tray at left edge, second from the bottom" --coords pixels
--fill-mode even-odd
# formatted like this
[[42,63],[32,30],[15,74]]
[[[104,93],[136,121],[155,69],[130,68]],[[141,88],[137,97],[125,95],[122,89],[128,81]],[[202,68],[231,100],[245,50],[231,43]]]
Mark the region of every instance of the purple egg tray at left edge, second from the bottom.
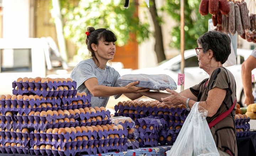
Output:
[[[2,137],[1,144],[3,144],[3,142],[5,142],[5,143],[20,143],[20,144],[22,143],[22,144],[26,145],[26,140],[30,140],[29,133],[0,131],[0,135]],[[5,139],[6,137],[7,137],[7,139]],[[10,139],[11,137],[13,139]]]

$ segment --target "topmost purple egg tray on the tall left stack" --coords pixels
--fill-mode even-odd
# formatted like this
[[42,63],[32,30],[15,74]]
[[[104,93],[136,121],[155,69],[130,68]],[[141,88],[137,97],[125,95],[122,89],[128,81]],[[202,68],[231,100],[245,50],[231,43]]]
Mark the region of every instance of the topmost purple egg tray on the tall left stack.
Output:
[[41,83],[41,82],[12,82],[12,88],[25,88],[25,89],[28,89],[28,87],[30,88],[43,88],[43,89],[46,89],[47,87],[49,89],[57,89],[59,86],[67,86],[69,89],[71,89],[72,87],[73,88],[76,88],[76,82],[73,81],[68,81],[68,82],[48,82],[48,83]]

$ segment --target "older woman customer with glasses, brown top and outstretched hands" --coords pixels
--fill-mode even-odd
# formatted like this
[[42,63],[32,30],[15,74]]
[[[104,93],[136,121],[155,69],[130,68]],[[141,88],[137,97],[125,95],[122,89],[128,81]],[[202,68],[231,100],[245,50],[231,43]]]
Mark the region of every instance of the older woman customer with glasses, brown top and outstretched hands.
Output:
[[213,121],[223,112],[232,109],[219,123],[210,130],[220,155],[237,155],[235,109],[236,83],[233,74],[223,67],[231,52],[230,38],[227,34],[209,31],[197,39],[199,68],[209,74],[209,78],[201,83],[177,93],[167,89],[170,93],[144,92],[142,95],[159,100],[169,105],[185,104],[191,108],[199,101],[204,109],[208,110],[207,122]]

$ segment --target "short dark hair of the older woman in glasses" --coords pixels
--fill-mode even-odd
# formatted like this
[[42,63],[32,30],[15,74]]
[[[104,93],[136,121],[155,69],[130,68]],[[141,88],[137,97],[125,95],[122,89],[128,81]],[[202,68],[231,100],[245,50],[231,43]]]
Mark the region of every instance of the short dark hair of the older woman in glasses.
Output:
[[213,58],[222,64],[228,60],[231,53],[229,36],[223,32],[209,31],[197,39],[197,43],[202,46],[204,53],[213,51]]

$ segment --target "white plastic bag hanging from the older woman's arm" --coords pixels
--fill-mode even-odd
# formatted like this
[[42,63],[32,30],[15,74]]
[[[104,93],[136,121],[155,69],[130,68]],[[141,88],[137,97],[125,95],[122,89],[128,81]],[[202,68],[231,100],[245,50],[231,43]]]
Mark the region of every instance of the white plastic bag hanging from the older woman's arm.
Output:
[[193,105],[174,145],[166,151],[167,156],[219,156],[206,121],[207,113],[198,102]]

